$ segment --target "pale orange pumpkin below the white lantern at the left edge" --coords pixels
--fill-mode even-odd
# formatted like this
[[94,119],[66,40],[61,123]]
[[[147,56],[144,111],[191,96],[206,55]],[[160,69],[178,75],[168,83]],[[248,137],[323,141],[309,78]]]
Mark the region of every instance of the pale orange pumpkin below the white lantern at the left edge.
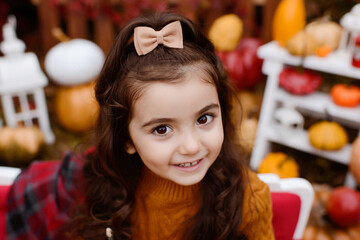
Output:
[[44,136],[36,127],[3,127],[0,129],[0,159],[9,165],[29,163],[44,144]]

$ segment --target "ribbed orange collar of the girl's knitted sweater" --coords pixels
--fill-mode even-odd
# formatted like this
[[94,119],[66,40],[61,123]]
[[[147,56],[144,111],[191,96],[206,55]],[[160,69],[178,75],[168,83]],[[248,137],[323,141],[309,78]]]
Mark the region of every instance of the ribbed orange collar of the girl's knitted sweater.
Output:
[[157,201],[176,203],[199,197],[201,183],[190,186],[179,185],[162,178],[147,167],[143,167],[138,191]]

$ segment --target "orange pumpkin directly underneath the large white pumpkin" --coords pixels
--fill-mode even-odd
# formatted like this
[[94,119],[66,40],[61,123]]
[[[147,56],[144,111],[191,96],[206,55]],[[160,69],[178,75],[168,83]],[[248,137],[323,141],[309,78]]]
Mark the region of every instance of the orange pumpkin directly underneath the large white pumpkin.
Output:
[[55,114],[62,127],[84,133],[94,128],[99,105],[94,96],[94,84],[60,87],[55,96]]

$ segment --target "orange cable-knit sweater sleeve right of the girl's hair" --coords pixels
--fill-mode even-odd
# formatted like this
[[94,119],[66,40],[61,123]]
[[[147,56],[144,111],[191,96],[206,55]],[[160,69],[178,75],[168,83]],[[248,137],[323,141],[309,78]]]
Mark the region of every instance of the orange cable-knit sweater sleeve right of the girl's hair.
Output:
[[254,172],[249,172],[250,184],[245,190],[243,223],[240,230],[248,240],[274,240],[270,190]]

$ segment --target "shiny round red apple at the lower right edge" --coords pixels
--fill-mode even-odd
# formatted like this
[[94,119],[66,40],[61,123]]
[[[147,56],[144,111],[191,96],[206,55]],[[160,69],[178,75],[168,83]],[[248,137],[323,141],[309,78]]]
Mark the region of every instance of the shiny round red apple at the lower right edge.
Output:
[[340,227],[356,223],[360,220],[360,193],[345,186],[335,188],[329,196],[326,211]]

